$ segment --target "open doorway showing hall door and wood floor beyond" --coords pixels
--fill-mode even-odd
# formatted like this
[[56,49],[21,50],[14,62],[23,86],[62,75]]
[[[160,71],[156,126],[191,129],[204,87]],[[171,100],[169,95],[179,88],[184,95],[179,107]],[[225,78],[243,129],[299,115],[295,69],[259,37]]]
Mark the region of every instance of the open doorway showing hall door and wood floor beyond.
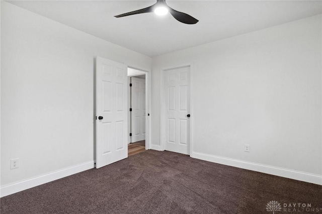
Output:
[[147,72],[128,68],[128,156],[147,149]]

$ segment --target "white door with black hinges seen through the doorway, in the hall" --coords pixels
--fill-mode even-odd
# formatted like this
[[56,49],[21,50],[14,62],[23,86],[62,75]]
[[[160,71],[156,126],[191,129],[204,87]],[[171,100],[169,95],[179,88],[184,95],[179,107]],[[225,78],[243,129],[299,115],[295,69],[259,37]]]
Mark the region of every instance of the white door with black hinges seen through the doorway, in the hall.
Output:
[[145,140],[145,79],[131,78],[131,143],[134,143]]

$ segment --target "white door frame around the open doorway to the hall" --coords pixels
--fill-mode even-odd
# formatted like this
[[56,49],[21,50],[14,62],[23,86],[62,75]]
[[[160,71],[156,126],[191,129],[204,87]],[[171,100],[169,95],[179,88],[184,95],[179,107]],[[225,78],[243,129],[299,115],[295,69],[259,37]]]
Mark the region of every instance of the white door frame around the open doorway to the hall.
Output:
[[[151,120],[150,120],[150,116],[147,116],[147,114],[150,114],[150,106],[151,106],[151,75],[150,75],[150,71],[147,70],[143,70],[143,69],[139,69],[136,67],[131,67],[128,66],[128,68],[132,68],[135,70],[139,70],[139,71],[143,71],[145,73],[145,150],[150,149],[150,142],[151,142]],[[135,75],[130,75],[127,76],[127,80],[128,80],[128,90],[130,90],[130,81],[131,81],[131,77],[135,77],[135,76],[139,76],[139,75],[143,75],[143,74],[135,74]],[[130,110],[130,93],[128,93],[128,109]],[[130,123],[130,111],[128,111],[128,133],[130,133],[130,128],[131,128],[131,123]],[[130,142],[130,136],[128,135],[128,143]]]

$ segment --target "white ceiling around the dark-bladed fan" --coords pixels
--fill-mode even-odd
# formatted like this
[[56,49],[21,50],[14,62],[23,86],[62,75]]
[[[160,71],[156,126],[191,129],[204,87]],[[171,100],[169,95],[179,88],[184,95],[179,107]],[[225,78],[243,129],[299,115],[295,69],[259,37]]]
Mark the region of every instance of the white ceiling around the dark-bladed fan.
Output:
[[114,16],[156,1],[8,1],[72,28],[153,57],[322,13],[321,1],[167,1],[199,22],[170,14]]

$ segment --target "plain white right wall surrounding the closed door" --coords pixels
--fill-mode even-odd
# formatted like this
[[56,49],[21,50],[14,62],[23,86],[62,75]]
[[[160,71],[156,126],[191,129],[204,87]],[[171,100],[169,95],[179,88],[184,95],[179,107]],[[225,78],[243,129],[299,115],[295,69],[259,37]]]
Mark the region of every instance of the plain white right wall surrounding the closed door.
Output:
[[321,38],[318,15],[153,57],[153,148],[160,70],[191,64],[193,157],[322,184]]

